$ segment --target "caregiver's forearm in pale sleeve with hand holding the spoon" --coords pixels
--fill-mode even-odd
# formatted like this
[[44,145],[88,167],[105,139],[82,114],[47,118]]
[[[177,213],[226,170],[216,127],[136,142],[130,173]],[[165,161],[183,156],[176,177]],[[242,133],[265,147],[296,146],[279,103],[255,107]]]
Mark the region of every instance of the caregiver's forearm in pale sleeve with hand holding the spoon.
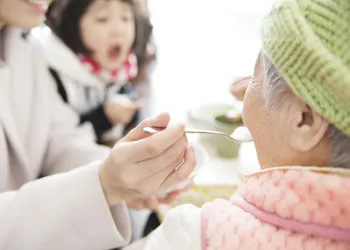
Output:
[[[0,249],[92,250],[125,245],[130,225],[122,201],[169,188],[188,178],[195,166],[184,126],[167,126],[169,119],[164,114],[144,121],[101,164],[0,194]],[[146,138],[146,126],[167,128]]]

